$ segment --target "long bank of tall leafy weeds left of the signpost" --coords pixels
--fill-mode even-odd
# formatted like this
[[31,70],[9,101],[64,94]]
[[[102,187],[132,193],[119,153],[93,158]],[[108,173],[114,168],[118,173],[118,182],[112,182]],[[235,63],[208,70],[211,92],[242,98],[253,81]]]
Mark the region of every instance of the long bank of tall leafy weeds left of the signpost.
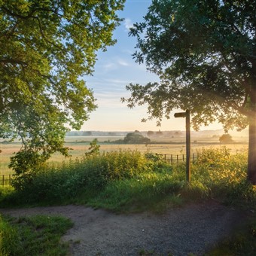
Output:
[[78,197],[84,190],[102,190],[110,181],[133,178],[144,172],[170,169],[166,163],[148,160],[139,151],[114,151],[93,154],[80,160],[70,160],[61,165],[47,166],[23,180],[20,197],[26,202],[54,203]]

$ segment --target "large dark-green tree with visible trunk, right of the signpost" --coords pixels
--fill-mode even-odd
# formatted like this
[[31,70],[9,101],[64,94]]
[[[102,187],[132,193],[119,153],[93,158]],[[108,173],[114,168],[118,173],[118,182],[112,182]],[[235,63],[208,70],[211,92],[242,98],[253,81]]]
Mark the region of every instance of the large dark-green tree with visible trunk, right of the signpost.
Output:
[[249,125],[248,180],[256,184],[256,3],[251,0],[153,0],[134,58],[160,82],[129,84],[130,108],[148,104],[149,119],[190,109],[194,128]]

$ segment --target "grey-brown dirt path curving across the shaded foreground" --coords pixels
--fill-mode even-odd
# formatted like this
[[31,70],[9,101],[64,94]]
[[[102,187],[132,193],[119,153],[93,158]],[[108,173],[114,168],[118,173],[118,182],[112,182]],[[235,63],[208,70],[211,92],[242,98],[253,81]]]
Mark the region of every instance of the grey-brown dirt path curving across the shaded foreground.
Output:
[[170,209],[164,215],[148,213],[115,215],[84,206],[54,206],[32,209],[0,209],[14,217],[62,215],[74,227],[63,236],[71,242],[72,255],[203,254],[209,245],[230,232],[242,215],[215,202]]

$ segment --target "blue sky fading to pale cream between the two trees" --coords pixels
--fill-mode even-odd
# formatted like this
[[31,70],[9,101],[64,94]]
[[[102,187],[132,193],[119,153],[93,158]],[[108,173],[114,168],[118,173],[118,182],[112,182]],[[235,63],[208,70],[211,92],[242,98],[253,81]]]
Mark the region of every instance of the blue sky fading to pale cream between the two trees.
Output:
[[[173,113],[169,120],[163,119],[161,126],[157,126],[157,120],[142,123],[142,118],[148,117],[147,106],[133,109],[127,108],[126,103],[120,101],[121,97],[128,98],[130,92],[126,91],[126,84],[158,81],[156,75],[146,70],[145,65],[139,65],[133,59],[136,38],[128,35],[133,23],[143,21],[151,1],[126,0],[123,11],[119,11],[119,17],[123,22],[114,31],[117,43],[108,47],[106,52],[99,52],[93,76],[85,77],[87,87],[93,90],[96,111],[90,113],[81,130],[100,131],[148,131],[148,130],[185,130],[184,118],[175,118]],[[178,111],[178,110],[177,110]],[[220,129],[220,125],[212,125],[207,130]],[[206,130],[203,127],[203,130]]]

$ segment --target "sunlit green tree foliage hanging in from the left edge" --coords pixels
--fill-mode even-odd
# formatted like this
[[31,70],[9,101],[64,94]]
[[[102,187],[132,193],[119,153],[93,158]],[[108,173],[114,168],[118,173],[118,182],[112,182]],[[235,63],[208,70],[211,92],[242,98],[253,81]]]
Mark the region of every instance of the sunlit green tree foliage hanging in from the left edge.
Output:
[[0,137],[19,138],[11,157],[20,174],[64,147],[96,108],[82,80],[96,51],[114,44],[124,0],[0,0]]

